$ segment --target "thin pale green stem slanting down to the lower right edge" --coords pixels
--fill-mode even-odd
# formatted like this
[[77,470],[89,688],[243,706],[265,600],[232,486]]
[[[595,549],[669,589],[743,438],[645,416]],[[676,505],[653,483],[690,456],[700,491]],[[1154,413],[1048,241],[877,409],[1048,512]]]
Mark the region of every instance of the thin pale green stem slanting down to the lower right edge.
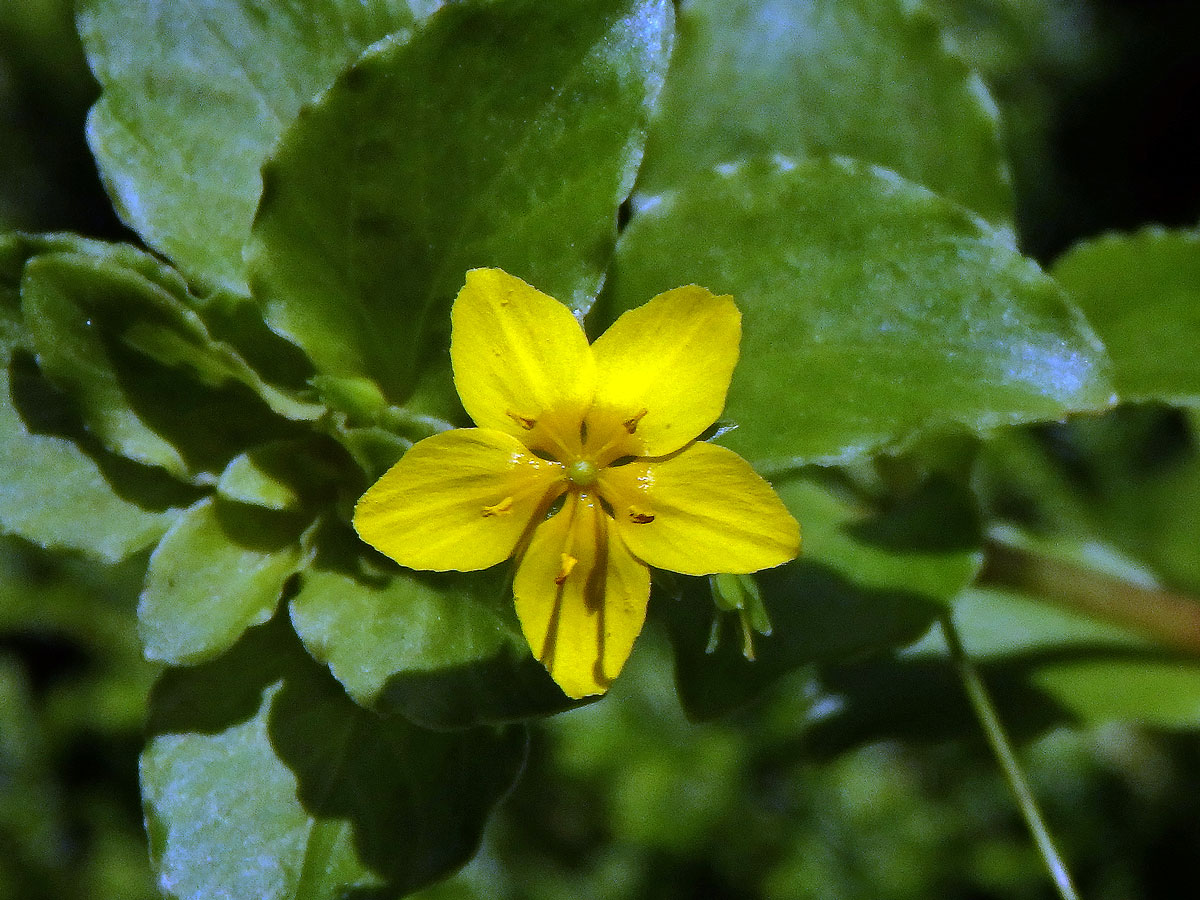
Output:
[[1013,745],[1004,732],[1004,726],[996,714],[996,707],[988,695],[988,689],[979,677],[979,671],[967,656],[966,650],[962,649],[962,641],[959,638],[959,631],[954,626],[954,620],[949,613],[941,617],[941,624],[946,644],[950,650],[950,660],[954,662],[959,678],[962,679],[967,700],[974,710],[976,718],[979,720],[979,725],[983,727],[992,752],[996,755],[996,761],[1000,763],[1001,770],[1004,773],[1004,780],[1008,781],[1008,787],[1016,799],[1016,805],[1025,817],[1025,823],[1033,835],[1033,841],[1042,854],[1042,862],[1045,863],[1046,870],[1050,872],[1050,880],[1054,882],[1062,900],[1079,900],[1079,894],[1075,893],[1075,886],[1072,884],[1067,865],[1054,845],[1050,830],[1046,828],[1042,811],[1038,809],[1038,802],[1033,797],[1033,791],[1030,788],[1028,781],[1025,779],[1025,773],[1021,772],[1021,766],[1016,761],[1016,754],[1013,751]]

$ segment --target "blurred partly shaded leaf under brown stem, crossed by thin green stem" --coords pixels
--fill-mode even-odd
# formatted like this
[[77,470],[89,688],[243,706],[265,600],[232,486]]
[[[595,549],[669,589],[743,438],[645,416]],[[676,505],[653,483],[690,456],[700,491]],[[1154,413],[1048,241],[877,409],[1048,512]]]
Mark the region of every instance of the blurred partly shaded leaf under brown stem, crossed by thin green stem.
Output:
[[[995,588],[954,601],[954,620],[1004,727],[1021,739],[1062,724],[1115,721],[1200,727],[1200,662],[1123,628]],[[810,752],[902,738],[977,736],[940,630],[896,658],[826,667],[823,710],[810,722]]]

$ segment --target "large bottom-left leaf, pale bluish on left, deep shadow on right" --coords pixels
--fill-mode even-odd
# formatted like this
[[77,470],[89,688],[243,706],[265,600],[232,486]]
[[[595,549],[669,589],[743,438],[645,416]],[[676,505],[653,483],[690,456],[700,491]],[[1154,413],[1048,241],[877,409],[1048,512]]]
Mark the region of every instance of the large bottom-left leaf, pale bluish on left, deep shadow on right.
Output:
[[287,629],[168,672],[142,791],[176,900],[389,900],[462,865],[516,778],[523,730],[424,731],[352,703]]

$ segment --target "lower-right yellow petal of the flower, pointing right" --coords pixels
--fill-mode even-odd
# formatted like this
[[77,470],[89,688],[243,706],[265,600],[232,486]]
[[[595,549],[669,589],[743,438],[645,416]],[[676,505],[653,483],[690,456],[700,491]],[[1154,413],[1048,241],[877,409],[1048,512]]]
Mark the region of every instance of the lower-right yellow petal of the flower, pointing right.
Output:
[[647,565],[684,575],[754,572],[796,557],[800,527],[750,463],[692,444],[600,473],[617,533]]

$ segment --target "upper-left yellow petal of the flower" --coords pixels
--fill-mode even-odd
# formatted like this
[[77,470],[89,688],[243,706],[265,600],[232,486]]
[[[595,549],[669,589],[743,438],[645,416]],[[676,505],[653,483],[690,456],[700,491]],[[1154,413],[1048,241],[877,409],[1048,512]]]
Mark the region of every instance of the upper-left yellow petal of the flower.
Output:
[[[558,431],[577,440],[595,364],[570,310],[500,269],[472,269],[450,323],[455,385],[476,425],[530,446],[545,432],[541,444],[553,444]],[[564,421],[545,420],[553,414]]]

